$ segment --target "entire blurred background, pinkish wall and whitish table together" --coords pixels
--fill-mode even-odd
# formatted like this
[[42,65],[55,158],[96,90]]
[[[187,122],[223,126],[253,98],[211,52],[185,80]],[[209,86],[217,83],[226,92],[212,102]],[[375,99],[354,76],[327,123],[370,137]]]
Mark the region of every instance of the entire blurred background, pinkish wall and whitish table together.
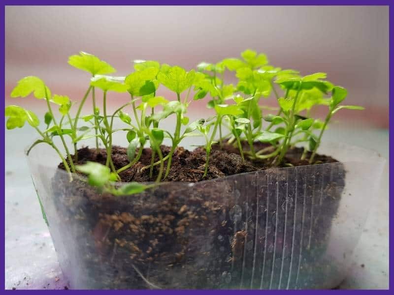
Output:
[[[326,72],[329,81],[347,88],[346,104],[366,110],[335,114],[325,140],[374,149],[387,158],[388,13],[385,6],[6,6],[5,104],[20,104],[43,118],[43,101],[9,97],[28,75],[39,76],[53,93],[81,100],[89,74],[67,64],[79,51],[98,56],[117,69],[115,75],[125,76],[133,59],[191,69],[200,61],[239,57],[250,48],[265,53],[275,66],[302,75]],[[163,87],[159,92],[175,99]],[[109,97],[110,108],[129,100],[125,94]],[[191,120],[209,116],[206,102],[193,102]],[[89,104],[85,110],[90,112]],[[324,111],[315,115],[323,117]],[[24,156],[36,138],[30,126],[5,132],[7,289],[66,286]],[[340,288],[388,288],[387,176],[386,166],[353,268]]]

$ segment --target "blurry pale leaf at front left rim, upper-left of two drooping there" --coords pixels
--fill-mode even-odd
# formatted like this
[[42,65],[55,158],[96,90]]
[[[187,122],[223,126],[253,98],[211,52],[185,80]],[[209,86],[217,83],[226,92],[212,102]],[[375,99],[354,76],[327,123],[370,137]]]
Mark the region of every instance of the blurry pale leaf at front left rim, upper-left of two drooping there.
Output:
[[97,162],[88,161],[84,165],[75,165],[75,169],[88,175],[88,183],[99,188],[102,188],[111,178],[110,169]]

